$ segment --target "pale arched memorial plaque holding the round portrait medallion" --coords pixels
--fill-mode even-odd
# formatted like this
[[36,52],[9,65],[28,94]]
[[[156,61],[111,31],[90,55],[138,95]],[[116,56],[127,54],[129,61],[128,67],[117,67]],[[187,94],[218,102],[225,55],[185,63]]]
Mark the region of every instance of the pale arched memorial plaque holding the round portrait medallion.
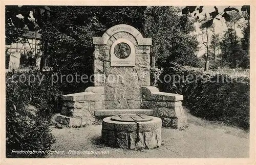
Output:
[[111,66],[135,66],[135,48],[131,41],[118,39],[112,44]]

